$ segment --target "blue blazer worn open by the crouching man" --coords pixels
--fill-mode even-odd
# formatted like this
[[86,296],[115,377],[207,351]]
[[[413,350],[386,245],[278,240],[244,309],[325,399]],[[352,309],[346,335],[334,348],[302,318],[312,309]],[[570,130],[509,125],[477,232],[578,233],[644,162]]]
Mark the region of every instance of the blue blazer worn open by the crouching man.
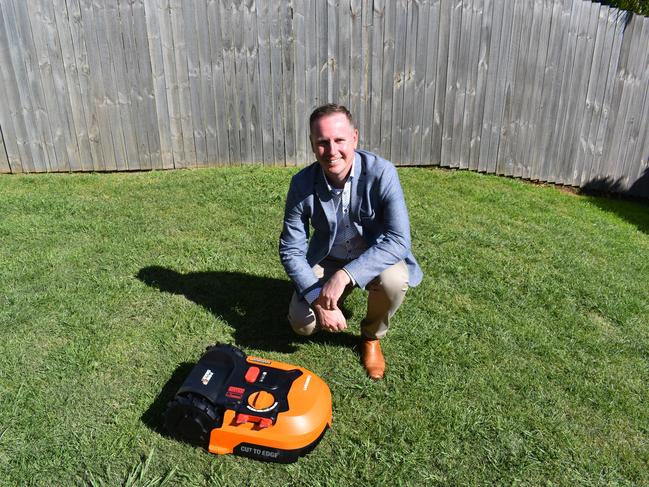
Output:
[[[409,285],[418,285],[423,273],[410,251],[410,222],[395,167],[371,152],[357,150],[354,172],[358,177],[352,179],[351,219],[368,248],[345,265],[345,270],[364,288],[382,271],[403,260],[408,267]],[[298,294],[304,296],[319,287],[311,268],[329,255],[336,224],[331,192],[320,165],[314,162],[291,179],[279,239],[282,265]],[[310,239],[309,225],[313,229]]]

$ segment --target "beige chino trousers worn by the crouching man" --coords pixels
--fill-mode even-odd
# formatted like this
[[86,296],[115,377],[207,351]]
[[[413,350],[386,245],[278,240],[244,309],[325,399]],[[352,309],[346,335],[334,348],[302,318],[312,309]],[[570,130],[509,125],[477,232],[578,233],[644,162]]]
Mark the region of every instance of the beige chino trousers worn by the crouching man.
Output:
[[[313,266],[313,272],[320,279],[320,284],[324,285],[346,263],[347,261],[327,257],[320,264]],[[351,284],[347,285],[338,301],[338,306],[342,305],[354,287]],[[365,289],[368,291],[367,314],[361,321],[361,334],[370,339],[383,338],[388,332],[390,318],[403,303],[408,290],[408,268],[406,263],[400,261],[388,267],[370,281]],[[315,313],[306,300],[297,293],[293,293],[291,298],[288,321],[293,331],[299,335],[312,335],[319,330]]]

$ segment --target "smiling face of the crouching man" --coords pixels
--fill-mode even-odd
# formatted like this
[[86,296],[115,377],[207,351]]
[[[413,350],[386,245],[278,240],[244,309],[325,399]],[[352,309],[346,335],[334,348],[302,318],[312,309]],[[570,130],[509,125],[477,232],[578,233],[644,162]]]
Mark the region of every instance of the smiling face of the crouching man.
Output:
[[342,185],[354,162],[356,130],[344,113],[326,115],[311,127],[311,148],[329,183]]

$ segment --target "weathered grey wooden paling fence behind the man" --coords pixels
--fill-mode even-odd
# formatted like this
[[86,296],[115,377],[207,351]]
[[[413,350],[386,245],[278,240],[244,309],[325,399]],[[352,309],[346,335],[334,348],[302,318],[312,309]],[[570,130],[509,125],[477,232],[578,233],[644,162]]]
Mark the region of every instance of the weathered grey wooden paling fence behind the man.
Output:
[[649,19],[583,0],[0,0],[0,172],[312,160],[361,145],[649,196]]

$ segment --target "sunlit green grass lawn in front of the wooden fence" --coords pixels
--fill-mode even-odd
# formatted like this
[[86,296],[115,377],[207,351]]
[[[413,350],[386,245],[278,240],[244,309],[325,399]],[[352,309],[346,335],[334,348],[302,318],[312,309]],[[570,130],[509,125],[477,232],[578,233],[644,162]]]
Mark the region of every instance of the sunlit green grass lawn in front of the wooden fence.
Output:
[[[294,337],[277,257],[293,169],[0,178],[2,485],[649,483],[649,208],[399,170],[424,282],[367,379],[355,335]],[[214,342],[323,377],[291,465],[167,438]]]

